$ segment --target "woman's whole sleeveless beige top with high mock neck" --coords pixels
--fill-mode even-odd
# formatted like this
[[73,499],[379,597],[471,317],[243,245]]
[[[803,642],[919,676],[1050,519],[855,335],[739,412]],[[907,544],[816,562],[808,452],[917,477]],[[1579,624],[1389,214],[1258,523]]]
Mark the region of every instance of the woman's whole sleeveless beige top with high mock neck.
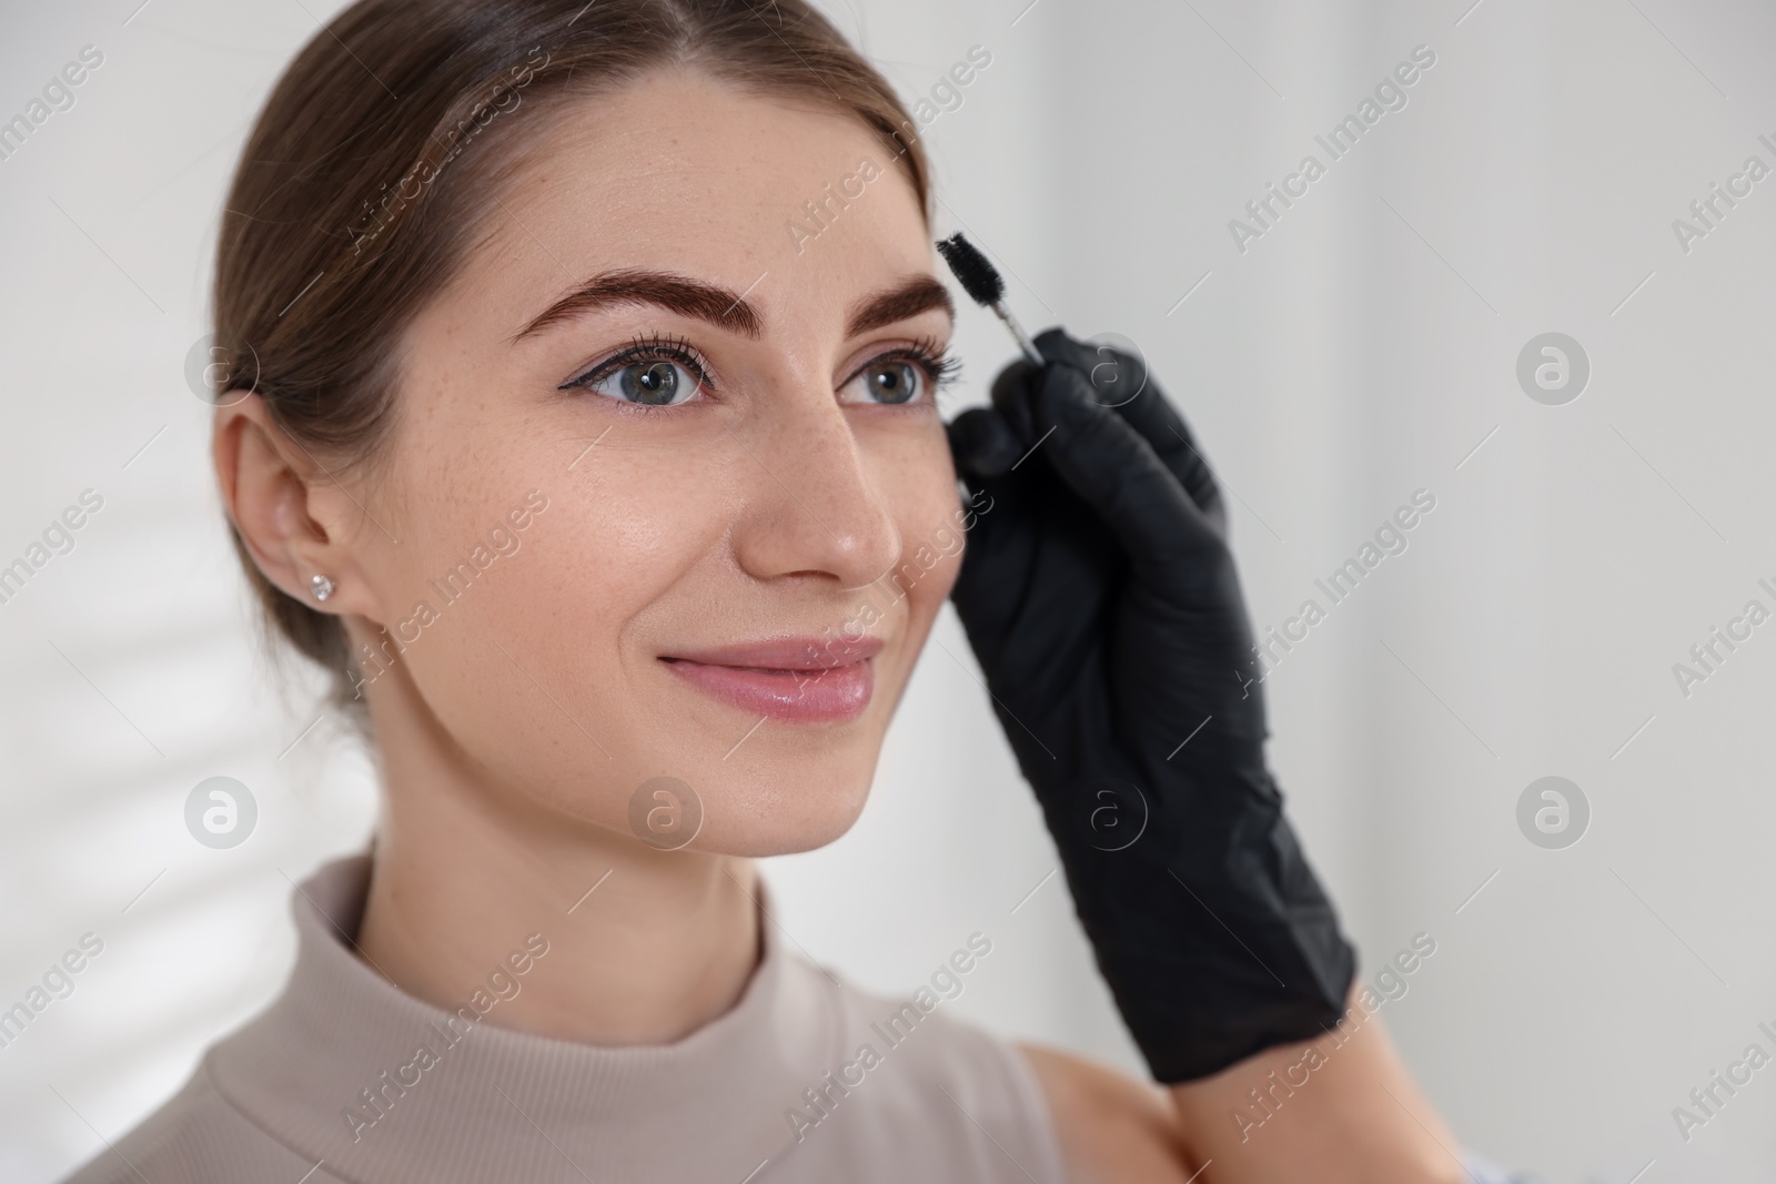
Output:
[[494,991],[455,1014],[398,991],[346,946],[368,884],[364,856],[305,880],[282,996],[67,1184],[1066,1180],[1016,1049],[931,992],[922,1012],[833,980],[765,920],[733,1008],[675,1044],[597,1047],[480,1022]]

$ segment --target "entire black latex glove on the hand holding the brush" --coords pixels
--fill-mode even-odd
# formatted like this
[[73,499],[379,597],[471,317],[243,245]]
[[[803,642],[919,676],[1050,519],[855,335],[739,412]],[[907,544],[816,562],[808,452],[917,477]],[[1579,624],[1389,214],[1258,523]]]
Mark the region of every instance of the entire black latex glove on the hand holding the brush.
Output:
[[1332,1028],[1355,953],[1265,767],[1209,467],[1140,362],[1035,344],[948,428],[979,515],[954,600],[1117,1008],[1188,1081]]

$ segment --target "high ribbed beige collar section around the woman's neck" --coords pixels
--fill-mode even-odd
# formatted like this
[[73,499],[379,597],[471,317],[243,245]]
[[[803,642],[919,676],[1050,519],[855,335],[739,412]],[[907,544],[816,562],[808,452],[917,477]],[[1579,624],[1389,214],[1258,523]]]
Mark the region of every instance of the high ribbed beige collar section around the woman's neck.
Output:
[[[451,1028],[451,1012],[403,994],[348,948],[368,888],[359,856],[291,895],[289,983],[204,1062],[226,1101],[343,1180],[737,1184],[785,1150],[785,1102],[838,1056],[836,989],[764,918],[764,957],[733,1008],[675,1044],[597,1047],[485,1019]],[[474,1010],[472,996],[464,1003]],[[364,1090],[385,1099],[380,1115]]]

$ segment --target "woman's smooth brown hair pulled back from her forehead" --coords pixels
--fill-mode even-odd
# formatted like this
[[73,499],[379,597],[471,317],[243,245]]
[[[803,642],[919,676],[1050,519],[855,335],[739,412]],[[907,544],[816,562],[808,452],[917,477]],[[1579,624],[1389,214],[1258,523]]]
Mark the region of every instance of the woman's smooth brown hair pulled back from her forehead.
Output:
[[[916,124],[806,0],[361,0],[302,48],[242,151],[217,252],[224,389],[256,389],[334,476],[366,463],[400,335],[487,224],[519,110],[670,66],[860,119],[929,218]],[[352,705],[339,618],[274,588],[238,531],[234,547],[270,627]]]

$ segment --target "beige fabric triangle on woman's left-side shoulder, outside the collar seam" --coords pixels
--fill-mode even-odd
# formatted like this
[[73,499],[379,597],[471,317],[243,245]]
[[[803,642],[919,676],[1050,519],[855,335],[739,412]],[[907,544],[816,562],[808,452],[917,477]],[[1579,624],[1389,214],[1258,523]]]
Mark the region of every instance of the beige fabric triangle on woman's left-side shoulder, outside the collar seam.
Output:
[[160,1109],[107,1141],[62,1184],[233,1184],[249,1179],[337,1184],[316,1166],[229,1106],[210,1083],[206,1067],[199,1065]]

